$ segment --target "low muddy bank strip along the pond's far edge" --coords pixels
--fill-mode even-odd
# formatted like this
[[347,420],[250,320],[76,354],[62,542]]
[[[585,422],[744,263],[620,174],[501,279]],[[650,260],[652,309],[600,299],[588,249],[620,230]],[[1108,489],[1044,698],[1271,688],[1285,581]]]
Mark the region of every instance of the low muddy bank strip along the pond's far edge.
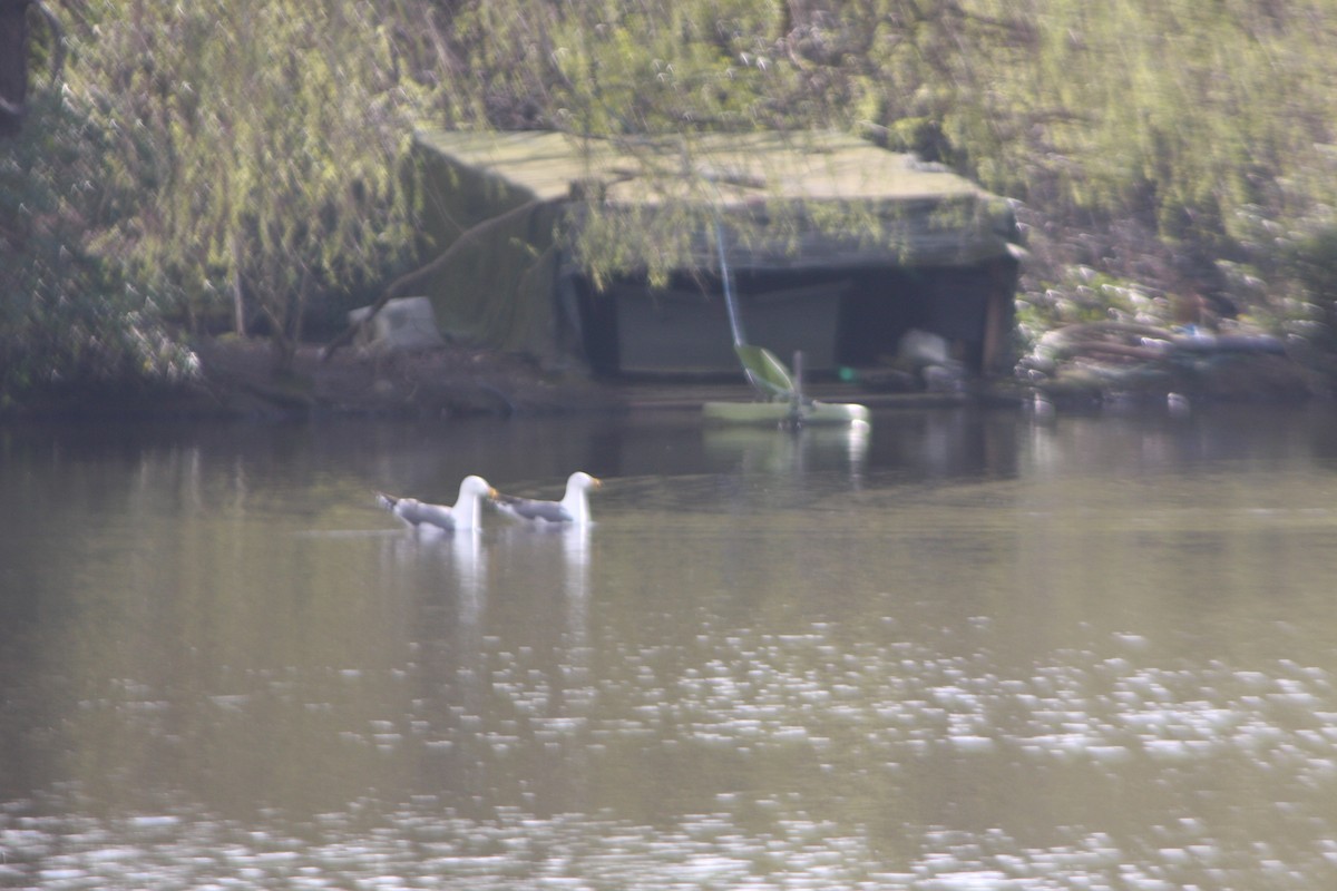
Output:
[[[1087,345],[1090,346],[1090,345]],[[647,409],[699,409],[706,401],[753,398],[730,381],[600,381],[580,371],[555,374],[523,355],[448,345],[373,355],[345,349],[328,359],[320,345],[302,346],[291,369],[274,371],[265,339],[231,337],[193,345],[195,373],[155,385],[66,383],[0,407],[0,421],[24,419],[258,419],[320,417],[443,419],[477,415],[575,414]],[[1102,357],[1108,359],[1108,357]],[[809,395],[869,407],[947,407],[967,402],[1020,405],[1043,394],[1058,406],[1091,407],[1111,394],[1122,401],[1163,402],[1167,393],[1195,401],[1294,402],[1324,397],[1326,378],[1281,354],[1203,354],[1193,363],[1116,357],[1094,362],[1075,353],[1047,367],[1043,381],[1000,379],[961,391],[912,393],[876,381],[813,382]],[[1025,363],[1023,362],[1023,366]],[[1034,370],[1032,370],[1034,374]]]

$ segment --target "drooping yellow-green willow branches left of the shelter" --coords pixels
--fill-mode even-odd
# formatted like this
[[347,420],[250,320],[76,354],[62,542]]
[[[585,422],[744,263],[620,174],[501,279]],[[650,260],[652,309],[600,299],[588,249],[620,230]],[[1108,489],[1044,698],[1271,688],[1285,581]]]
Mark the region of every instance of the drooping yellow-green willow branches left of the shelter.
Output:
[[241,291],[295,335],[313,294],[412,247],[416,91],[366,4],[243,5],[104,4],[76,95],[135,134],[118,172],[146,207],[106,242],[127,274],[189,318]]

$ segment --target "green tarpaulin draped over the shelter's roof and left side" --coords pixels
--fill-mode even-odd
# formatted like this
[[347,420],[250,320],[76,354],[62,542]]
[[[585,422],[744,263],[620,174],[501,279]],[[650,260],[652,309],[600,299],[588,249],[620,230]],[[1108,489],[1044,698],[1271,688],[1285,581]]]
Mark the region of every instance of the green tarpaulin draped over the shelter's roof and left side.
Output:
[[612,140],[433,130],[414,146],[433,250],[499,220],[433,282],[443,329],[539,355],[562,349],[560,271],[574,262],[566,248],[591,195],[611,220],[599,248],[620,250],[632,266],[659,248],[644,235],[670,212],[668,231],[685,232],[678,262],[707,270],[718,264],[709,238],[717,219],[738,270],[964,266],[1008,254],[1015,235],[996,196],[849,135]]

